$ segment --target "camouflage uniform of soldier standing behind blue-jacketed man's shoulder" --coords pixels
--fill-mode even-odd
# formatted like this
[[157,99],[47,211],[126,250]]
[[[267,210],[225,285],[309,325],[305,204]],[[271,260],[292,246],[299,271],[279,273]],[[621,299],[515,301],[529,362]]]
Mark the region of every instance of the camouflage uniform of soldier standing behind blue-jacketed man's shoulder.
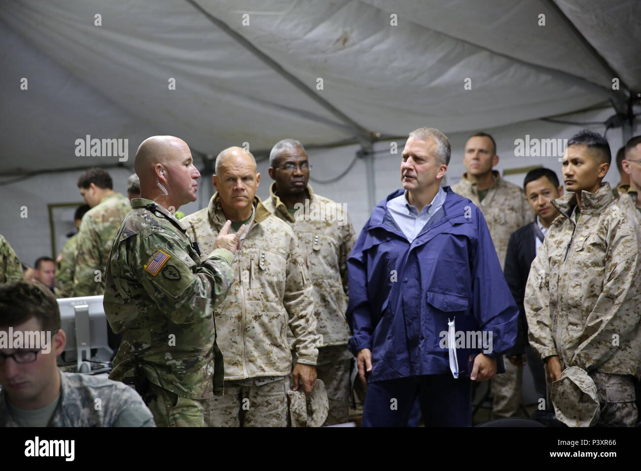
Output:
[[[452,191],[469,198],[483,212],[503,269],[510,236],[531,222],[535,214],[519,186],[501,178],[496,170],[492,170],[492,175],[494,184],[483,201],[479,202],[476,183],[467,179],[467,173],[456,185],[452,185]],[[517,411],[521,399],[523,368],[515,367],[507,358],[504,363],[505,373],[492,378],[492,418],[510,417]]]

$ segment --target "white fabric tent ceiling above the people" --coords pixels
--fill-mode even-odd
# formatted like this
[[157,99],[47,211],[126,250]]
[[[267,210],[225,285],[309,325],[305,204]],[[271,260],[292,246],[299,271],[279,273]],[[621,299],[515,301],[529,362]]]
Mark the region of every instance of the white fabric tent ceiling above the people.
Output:
[[131,158],[153,134],[216,154],[623,104],[640,23],[637,0],[5,1],[0,172],[117,163],[77,157],[85,135],[128,138]]

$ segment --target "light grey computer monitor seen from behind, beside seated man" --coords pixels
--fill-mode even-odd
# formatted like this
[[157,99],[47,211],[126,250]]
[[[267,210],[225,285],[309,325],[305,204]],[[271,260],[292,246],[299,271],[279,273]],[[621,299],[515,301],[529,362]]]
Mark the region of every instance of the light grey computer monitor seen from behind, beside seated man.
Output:
[[113,350],[107,340],[103,296],[67,297],[57,301],[60,326],[67,335],[65,363],[76,361],[79,373],[105,369]]

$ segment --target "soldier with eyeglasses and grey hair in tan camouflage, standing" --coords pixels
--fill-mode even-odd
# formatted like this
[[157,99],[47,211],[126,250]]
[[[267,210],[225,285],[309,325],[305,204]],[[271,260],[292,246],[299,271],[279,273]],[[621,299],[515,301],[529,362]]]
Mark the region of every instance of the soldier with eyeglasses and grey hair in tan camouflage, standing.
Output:
[[349,418],[349,373],[353,358],[347,350],[349,326],[345,311],[347,257],[356,242],[354,227],[342,205],[312,192],[307,184],[308,156],[300,142],[281,140],[274,145],[269,161],[269,176],[274,183],[265,208],[294,229],[313,283],[316,329],[322,338],[316,371],[329,399],[324,425],[342,424]]

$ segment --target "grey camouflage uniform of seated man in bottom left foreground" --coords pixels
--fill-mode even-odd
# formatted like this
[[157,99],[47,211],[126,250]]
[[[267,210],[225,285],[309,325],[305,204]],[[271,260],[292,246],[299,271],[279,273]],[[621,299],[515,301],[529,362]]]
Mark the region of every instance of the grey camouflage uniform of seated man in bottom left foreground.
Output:
[[[151,412],[129,386],[98,376],[60,372],[60,400],[48,427],[113,427],[124,416],[130,419],[126,426],[154,427]],[[0,427],[19,427],[8,410],[4,391],[0,393]]]

